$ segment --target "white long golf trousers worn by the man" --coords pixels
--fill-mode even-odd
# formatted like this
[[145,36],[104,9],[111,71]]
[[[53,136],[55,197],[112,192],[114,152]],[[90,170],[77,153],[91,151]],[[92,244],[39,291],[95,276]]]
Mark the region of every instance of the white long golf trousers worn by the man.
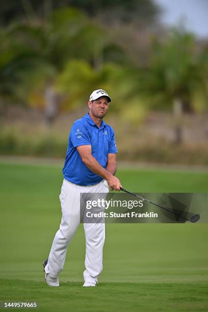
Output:
[[[80,194],[81,193],[107,193],[109,189],[100,183],[93,186],[79,186],[63,181],[59,196],[62,209],[60,228],[57,231],[50,249],[45,272],[51,277],[57,277],[63,270],[66,251],[77,227],[80,224]],[[84,280],[97,282],[102,271],[102,249],[105,241],[105,223],[84,223],[86,238],[86,256]]]

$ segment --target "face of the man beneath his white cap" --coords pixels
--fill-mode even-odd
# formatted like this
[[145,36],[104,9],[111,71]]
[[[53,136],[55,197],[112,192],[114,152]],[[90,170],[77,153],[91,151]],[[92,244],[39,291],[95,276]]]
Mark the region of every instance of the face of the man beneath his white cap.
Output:
[[109,101],[108,97],[101,96],[98,99],[88,102],[88,106],[90,108],[90,112],[96,118],[103,118],[106,116],[107,111],[109,109]]

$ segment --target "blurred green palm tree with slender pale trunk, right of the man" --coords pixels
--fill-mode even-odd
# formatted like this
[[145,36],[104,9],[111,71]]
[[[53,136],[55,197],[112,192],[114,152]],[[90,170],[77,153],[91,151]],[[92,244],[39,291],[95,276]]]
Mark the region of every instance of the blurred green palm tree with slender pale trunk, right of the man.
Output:
[[194,36],[177,29],[164,42],[154,41],[149,65],[139,71],[138,90],[149,107],[172,107],[176,143],[182,141],[183,112],[194,112],[194,94],[202,90],[205,67],[207,59]]

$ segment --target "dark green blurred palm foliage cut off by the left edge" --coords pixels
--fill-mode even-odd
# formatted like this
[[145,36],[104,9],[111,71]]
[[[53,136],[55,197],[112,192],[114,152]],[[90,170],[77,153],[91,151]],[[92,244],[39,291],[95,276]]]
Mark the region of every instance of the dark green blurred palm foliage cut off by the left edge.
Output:
[[41,66],[34,51],[27,45],[16,45],[10,30],[0,32],[0,114],[8,104],[25,104],[21,88],[24,76]]

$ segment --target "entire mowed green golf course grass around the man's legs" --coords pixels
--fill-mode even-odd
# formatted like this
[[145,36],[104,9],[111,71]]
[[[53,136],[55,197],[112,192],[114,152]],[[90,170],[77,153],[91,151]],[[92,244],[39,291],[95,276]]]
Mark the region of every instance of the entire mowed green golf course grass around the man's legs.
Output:
[[[55,311],[206,311],[207,233],[197,224],[107,224],[103,272],[82,288],[85,238],[80,225],[69,244],[60,288],[44,282],[61,220],[59,166],[0,164],[0,302],[38,302]],[[208,174],[119,169],[133,192],[208,192]]]

